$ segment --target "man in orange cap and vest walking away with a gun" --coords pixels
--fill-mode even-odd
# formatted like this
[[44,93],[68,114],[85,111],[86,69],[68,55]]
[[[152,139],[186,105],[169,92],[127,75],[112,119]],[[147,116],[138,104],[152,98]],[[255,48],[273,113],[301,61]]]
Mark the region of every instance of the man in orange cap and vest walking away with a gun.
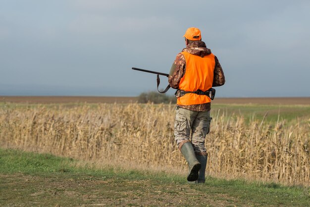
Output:
[[176,56],[168,77],[169,85],[178,89],[174,135],[188,162],[187,180],[205,183],[205,138],[212,119],[209,89],[223,85],[225,77],[217,58],[202,41],[198,28],[188,28],[183,37],[186,48]]

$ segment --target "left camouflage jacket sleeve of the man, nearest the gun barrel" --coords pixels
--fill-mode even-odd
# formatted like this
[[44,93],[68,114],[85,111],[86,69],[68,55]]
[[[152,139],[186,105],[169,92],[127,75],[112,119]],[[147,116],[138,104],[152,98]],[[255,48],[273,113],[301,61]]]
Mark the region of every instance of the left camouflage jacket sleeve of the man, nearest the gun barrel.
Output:
[[183,54],[179,53],[173,62],[168,81],[172,88],[178,89],[181,78],[185,73],[186,61]]

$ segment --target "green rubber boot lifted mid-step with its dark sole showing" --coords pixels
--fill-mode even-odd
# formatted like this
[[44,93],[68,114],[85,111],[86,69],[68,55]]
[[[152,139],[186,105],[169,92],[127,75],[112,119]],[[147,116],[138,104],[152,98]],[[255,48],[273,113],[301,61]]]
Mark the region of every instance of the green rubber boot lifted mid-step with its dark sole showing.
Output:
[[181,153],[188,162],[189,173],[187,176],[187,180],[196,181],[198,179],[198,172],[201,168],[201,164],[196,158],[192,143],[191,142],[184,143],[181,148]]

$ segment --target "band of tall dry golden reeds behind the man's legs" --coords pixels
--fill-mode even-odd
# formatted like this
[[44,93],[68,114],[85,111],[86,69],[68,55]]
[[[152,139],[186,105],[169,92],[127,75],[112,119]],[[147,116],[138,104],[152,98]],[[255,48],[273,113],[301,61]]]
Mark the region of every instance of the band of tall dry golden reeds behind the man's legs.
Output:
[[[206,138],[207,174],[310,184],[309,120],[270,125],[246,123],[241,116],[220,111],[212,114]],[[0,144],[83,160],[186,171],[173,124],[173,105],[2,107]]]

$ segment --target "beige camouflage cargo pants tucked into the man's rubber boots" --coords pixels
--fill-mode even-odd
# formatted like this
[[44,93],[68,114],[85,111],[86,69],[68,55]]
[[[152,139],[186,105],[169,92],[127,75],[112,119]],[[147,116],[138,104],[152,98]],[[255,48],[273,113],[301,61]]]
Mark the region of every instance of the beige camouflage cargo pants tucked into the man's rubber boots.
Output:
[[210,111],[197,112],[176,107],[174,136],[181,149],[185,142],[192,141],[197,155],[207,155],[205,138],[210,132]]

